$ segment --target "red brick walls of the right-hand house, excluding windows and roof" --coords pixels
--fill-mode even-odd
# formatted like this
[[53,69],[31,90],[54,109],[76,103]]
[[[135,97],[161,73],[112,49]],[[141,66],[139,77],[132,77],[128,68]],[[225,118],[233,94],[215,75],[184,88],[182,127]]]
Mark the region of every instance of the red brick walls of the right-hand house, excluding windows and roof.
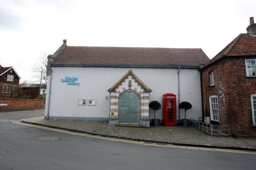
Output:
[[[214,86],[210,86],[211,71],[214,71]],[[204,116],[210,116],[209,97],[216,95],[220,123],[211,121],[212,124],[230,125],[234,134],[256,134],[250,98],[250,95],[256,94],[256,78],[246,77],[245,58],[232,57],[218,61],[202,70],[201,76]]]

